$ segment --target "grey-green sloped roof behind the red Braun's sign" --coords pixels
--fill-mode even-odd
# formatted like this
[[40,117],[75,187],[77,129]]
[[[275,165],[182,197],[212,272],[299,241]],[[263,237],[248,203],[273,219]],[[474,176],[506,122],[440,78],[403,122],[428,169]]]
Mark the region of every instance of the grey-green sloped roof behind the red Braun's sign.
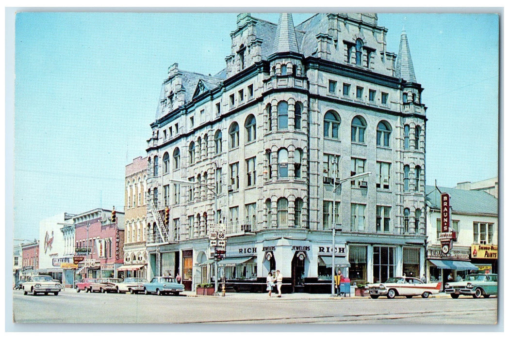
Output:
[[[450,195],[453,211],[465,213],[498,214],[498,199],[484,191],[467,191],[448,187],[438,188]],[[434,186],[426,186],[426,203],[432,208],[440,209],[440,192]]]

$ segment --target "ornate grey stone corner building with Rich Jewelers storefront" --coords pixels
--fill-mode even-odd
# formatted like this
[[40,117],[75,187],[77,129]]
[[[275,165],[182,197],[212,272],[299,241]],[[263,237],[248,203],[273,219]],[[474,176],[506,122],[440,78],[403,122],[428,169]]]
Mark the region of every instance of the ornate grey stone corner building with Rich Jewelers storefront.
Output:
[[332,228],[352,281],[424,273],[426,106],[406,33],[398,56],[386,34],[376,14],[244,13],[223,71],[169,68],[147,148],[149,277],[214,281],[216,220],[235,290],[278,269],[284,290],[330,292]]

